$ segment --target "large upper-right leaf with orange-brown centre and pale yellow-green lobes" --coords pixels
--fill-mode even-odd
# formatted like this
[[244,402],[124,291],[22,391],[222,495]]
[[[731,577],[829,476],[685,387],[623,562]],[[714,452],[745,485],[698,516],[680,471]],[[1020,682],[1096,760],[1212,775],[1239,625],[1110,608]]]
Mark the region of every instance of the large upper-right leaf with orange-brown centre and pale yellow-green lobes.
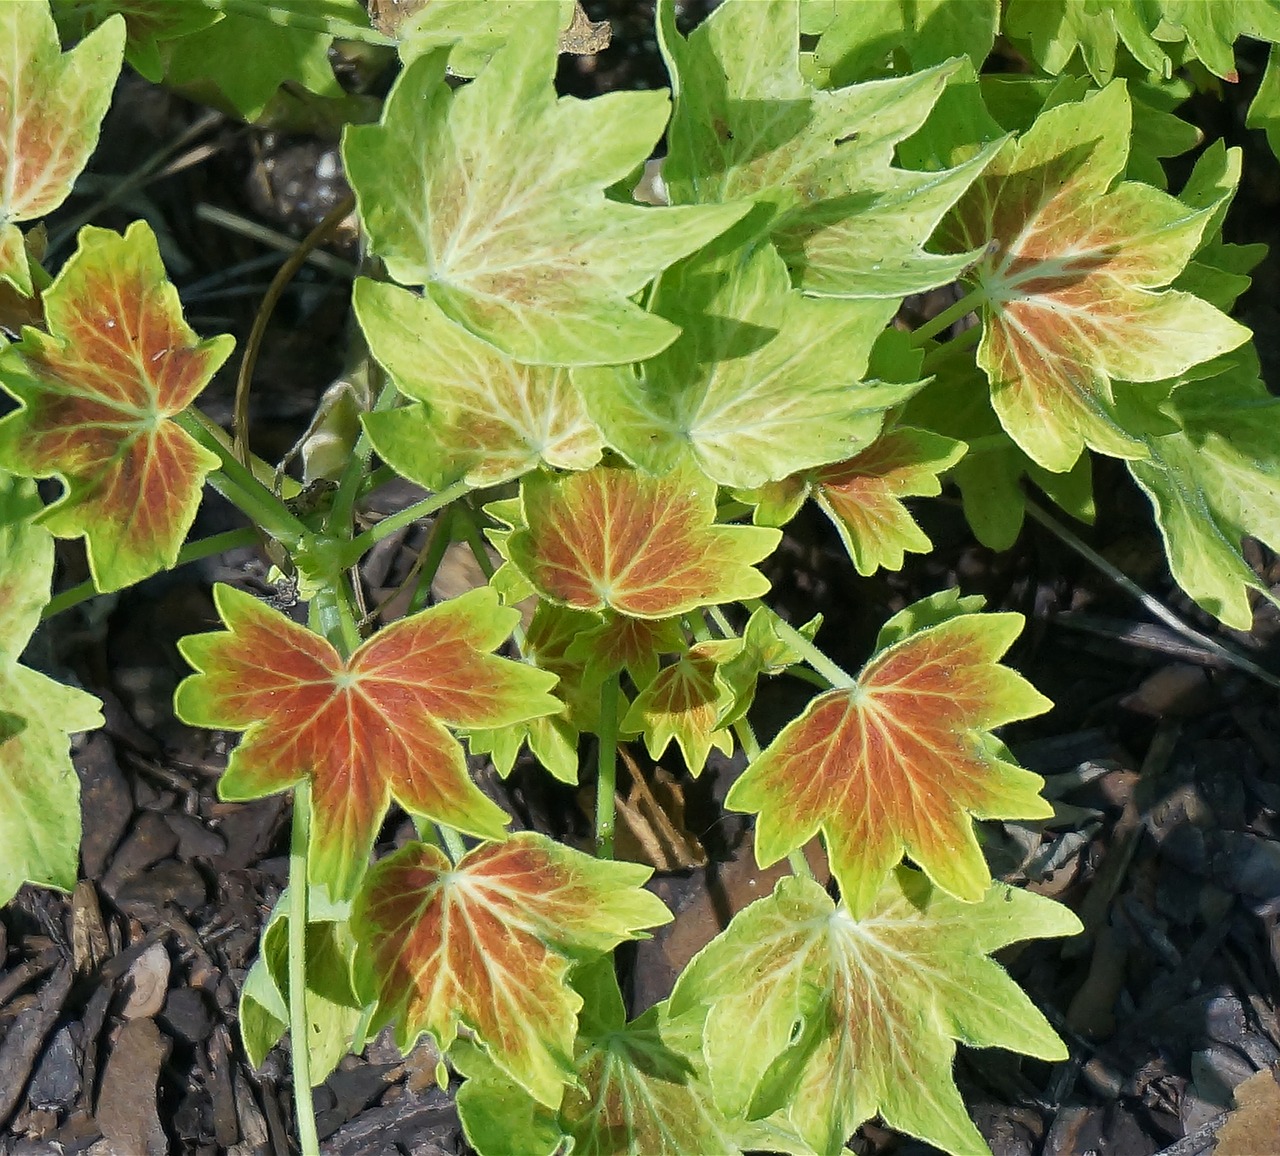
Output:
[[1085,446],[1143,454],[1112,412],[1112,379],[1172,378],[1249,337],[1198,297],[1161,291],[1230,197],[1239,155],[1206,154],[1202,164],[1222,170],[1224,187],[1192,207],[1147,184],[1114,184],[1129,124],[1121,82],[1050,109],[948,219],[955,247],[987,247],[973,279],[984,302],[978,364],[996,412],[1027,454],[1055,472]]

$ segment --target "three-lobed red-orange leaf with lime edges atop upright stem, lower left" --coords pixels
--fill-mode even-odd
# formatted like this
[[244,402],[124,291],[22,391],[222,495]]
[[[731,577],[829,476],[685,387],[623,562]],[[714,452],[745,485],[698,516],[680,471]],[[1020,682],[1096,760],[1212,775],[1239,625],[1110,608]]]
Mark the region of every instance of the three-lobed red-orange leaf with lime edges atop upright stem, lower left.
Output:
[[179,717],[244,731],[219,783],[256,799],[312,782],[311,878],[349,897],[390,799],[483,839],[507,817],[467,777],[447,727],[500,727],[550,714],[554,675],[486,652],[518,612],[486,589],[388,626],[349,659],[320,635],[230,586],[214,591],[225,631],[179,649],[200,671],[179,687]]

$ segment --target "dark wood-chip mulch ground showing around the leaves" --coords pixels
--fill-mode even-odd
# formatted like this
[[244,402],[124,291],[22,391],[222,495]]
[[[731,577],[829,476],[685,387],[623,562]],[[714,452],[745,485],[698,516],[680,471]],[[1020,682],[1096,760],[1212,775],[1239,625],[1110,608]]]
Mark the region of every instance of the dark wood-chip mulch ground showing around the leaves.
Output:
[[[646,5],[588,6],[593,18],[614,19],[616,41],[599,58],[567,61],[566,91],[662,83]],[[701,10],[685,9],[690,19]],[[1230,239],[1274,242],[1280,181],[1266,142],[1240,128],[1258,69],[1242,72],[1239,91],[1201,114],[1211,134],[1247,150]],[[161,149],[168,161],[120,196],[122,178]],[[92,172],[51,223],[55,261],[82,215],[113,227],[145,215],[191,323],[234,333],[242,348],[282,256],[204,206],[301,236],[340,198],[335,159],[334,140],[246,128],[125,77]],[[339,246],[328,266],[307,266],[268,333],[252,428],[255,449],[269,458],[297,439],[342,370],[349,259]],[[1240,315],[1258,334],[1272,381],[1277,303],[1280,262],[1271,257]],[[224,422],[234,361],[202,401]],[[1097,525],[1076,533],[1184,621],[1280,671],[1272,608],[1258,607],[1248,634],[1217,627],[1170,582],[1149,510],[1124,471],[1100,463],[1096,488]],[[982,548],[951,497],[916,508],[937,549],[899,574],[856,579],[828,524],[806,513],[788,527],[769,576],[776,608],[795,622],[820,612],[820,643],[852,667],[884,617],[943,588],[1028,616],[1010,662],[1056,705],[1004,737],[1046,776],[1057,814],[1042,826],[988,824],[984,837],[1001,878],[1059,899],[1085,923],[1074,940],[1001,956],[1068,1041],[1070,1059],[1050,1065],[961,1048],[961,1089],[996,1156],[1207,1152],[1233,1091],[1280,1060],[1280,703],[1265,682],[1156,623],[1042,526],[1029,524],[1002,554]],[[380,501],[390,510],[404,494],[393,488]],[[210,498],[195,535],[238,524]],[[396,588],[425,534],[406,531],[369,559],[371,599]],[[1251,561],[1280,593],[1280,562],[1260,548]],[[65,613],[32,644],[28,662],[102,699],[106,726],[74,750],[83,881],[70,896],[24,888],[0,914],[0,1152],[289,1151],[287,1048],[253,1069],[237,1032],[239,990],[287,874],[288,804],[219,801],[233,736],[192,730],[172,712],[187,673],[175,640],[214,627],[211,584],[276,593],[268,566],[248,548],[207,559]],[[59,588],[83,577],[78,544],[60,544]],[[440,581],[468,580],[460,563]],[[806,693],[768,684],[755,716],[762,737]],[[632,754],[658,801],[630,789],[628,837],[637,858],[659,865],[653,886],[677,911],[662,935],[625,955],[640,1011],[773,876],[755,868],[745,821],[718,808],[737,760],[721,760],[695,783],[678,764],[658,773],[643,751]],[[520,767],[502,782],[475,769],[518,826],[585,835],[579,800],[545,775]],[[403,822],[388,821],[385,845],[403,835]],[[316,1089],[325,1151],[466,1151],[456,1087],[439,1089],[435,1066],[429,1043],[402,1057],[387,1037],[347,1057]],[[932,1151],[874,1124],[852,1147]]]

